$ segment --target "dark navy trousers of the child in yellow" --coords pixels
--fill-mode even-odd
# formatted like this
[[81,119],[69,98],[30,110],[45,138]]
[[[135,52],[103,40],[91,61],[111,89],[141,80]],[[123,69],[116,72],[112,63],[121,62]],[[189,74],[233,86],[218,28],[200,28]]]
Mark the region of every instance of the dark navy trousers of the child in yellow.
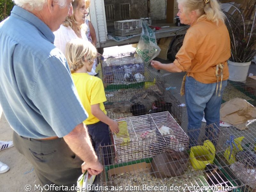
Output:
[[102,154],[104,159],[104,165],[111,164],[111,145],[108,125],[99,121],[95,124],[86,125],[88,133],[92,139],[92,146],[99,156],[99,147],[102,146]]

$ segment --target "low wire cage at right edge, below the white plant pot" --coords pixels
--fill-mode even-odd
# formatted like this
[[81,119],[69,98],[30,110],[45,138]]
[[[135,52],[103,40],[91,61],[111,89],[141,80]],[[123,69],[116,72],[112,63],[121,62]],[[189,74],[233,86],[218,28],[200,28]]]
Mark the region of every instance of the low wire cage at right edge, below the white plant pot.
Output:
[[256,80],[247,77],[245,82],[236,82],[228,80],[227,87],[222,96],[222,102],[233,98],[241,98],[253,106],[256,106]]

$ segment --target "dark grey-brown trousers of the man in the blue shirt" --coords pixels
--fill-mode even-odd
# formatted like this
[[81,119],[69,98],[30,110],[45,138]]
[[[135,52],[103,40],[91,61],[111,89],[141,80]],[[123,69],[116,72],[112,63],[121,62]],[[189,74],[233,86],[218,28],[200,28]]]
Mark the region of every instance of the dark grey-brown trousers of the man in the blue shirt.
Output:
[[76,187],[83,161],[71,151],[63,138],[36,140],[13,132],[13,144],[33,165],[42,186]]

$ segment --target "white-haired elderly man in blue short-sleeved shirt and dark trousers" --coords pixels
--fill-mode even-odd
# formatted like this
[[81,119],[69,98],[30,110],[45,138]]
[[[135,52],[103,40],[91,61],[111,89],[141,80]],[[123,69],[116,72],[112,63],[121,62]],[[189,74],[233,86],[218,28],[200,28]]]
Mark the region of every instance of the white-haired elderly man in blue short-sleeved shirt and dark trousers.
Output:
[[41,184],[71,187],[81,166],[91,175],[103,170],[65,56],[53,45],[52,31],[72,14],[72,0],[14,2],[0,23],[0,103],[14,146]]

